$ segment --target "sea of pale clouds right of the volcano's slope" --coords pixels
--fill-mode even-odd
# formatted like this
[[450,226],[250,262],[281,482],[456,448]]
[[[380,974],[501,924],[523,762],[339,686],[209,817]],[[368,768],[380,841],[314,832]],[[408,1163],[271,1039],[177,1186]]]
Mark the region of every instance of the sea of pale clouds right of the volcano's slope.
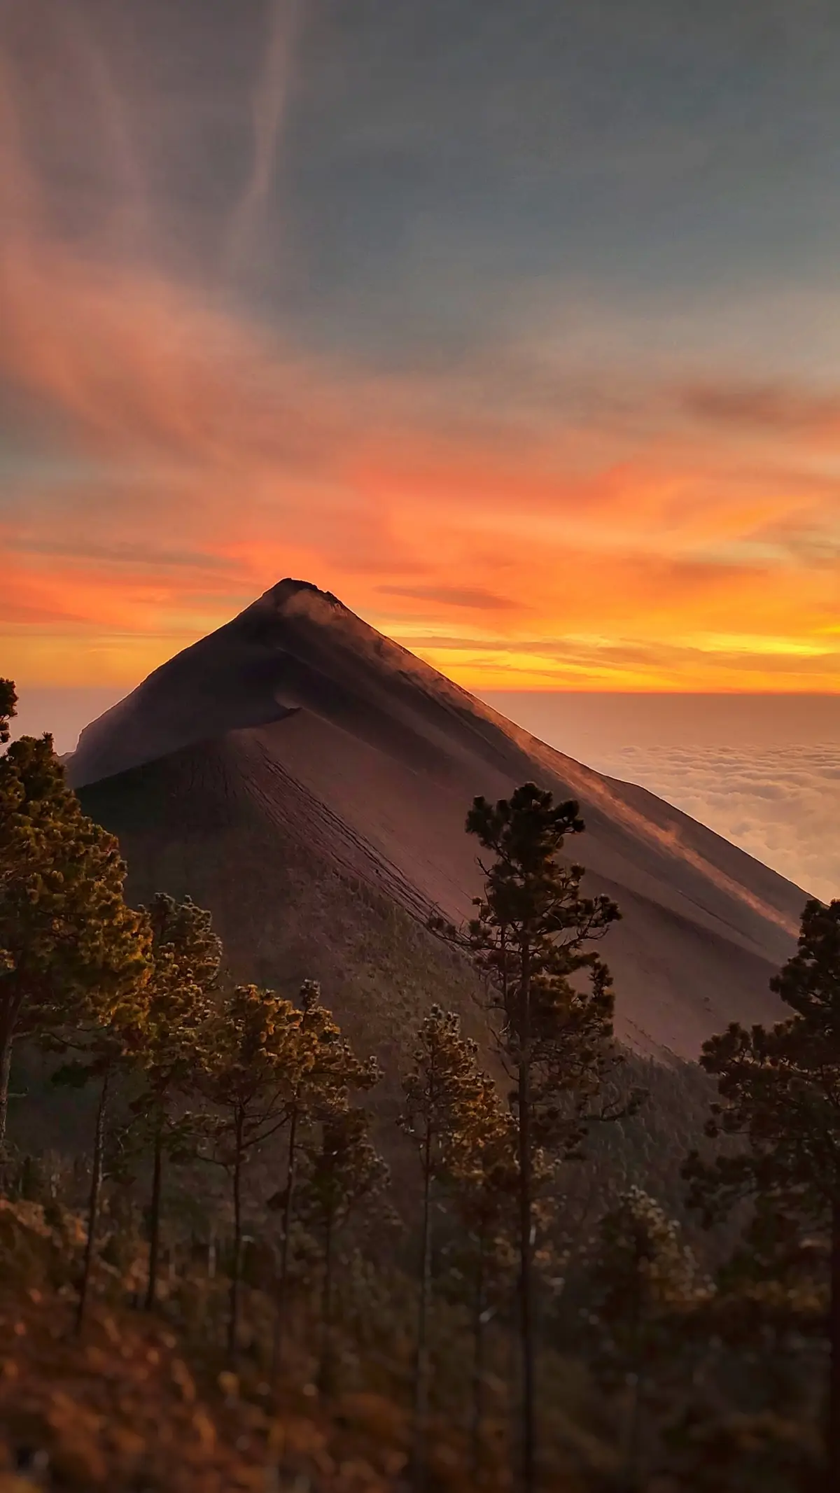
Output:
[[840,897],[840,745],[624,746],[589,766],[649,788],[822,900]]

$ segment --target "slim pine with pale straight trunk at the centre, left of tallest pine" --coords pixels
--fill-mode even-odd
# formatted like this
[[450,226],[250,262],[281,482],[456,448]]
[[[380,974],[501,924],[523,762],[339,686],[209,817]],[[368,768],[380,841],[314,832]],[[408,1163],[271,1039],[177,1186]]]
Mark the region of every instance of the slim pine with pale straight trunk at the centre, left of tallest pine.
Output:
[[406,1096],[400,1126],[418,1148],[422,1176],[421,1268],[413,1406],[413,1483],[425,1486],[425,1438],[428,1421],[428,1311],[431,1305],[431,1254],[434,1187],[466,1144],[466,1132],[477,1121],[483,1096],[476,1067],[477,1045],[461,1035],[455,1012],[434,1005],[416,1038],[413,1066],[403,1078]]

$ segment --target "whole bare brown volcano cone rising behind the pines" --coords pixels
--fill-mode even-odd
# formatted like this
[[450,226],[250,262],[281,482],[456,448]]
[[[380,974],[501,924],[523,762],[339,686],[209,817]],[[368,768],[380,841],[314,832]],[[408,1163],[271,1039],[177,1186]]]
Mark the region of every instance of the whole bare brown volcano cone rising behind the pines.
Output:
[[[618,902],[616,1032],[695,1057],[771,1020],[804,893],[643,788],[536,741],[307,582],[282,581],[82,733],[70,781],[128,861],[128,891],[209,906],[233,973],[318,978],[391,1066],[433,1000],[476,1032],[476,979],[425,929],[480,887],[477,793],[577,799],[570,854]],[[476,1033],[480,1035],[480,1033]]]

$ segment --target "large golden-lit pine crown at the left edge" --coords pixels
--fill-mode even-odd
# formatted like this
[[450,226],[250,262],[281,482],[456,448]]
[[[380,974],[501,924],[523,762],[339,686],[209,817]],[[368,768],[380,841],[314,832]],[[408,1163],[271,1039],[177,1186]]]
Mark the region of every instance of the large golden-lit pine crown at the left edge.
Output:
[[0,757],[0,878],[1,1144],[15,1039],[66,1026],[93,996],[116,1011],[148,973],[119,847],[82,814],[49,736]]

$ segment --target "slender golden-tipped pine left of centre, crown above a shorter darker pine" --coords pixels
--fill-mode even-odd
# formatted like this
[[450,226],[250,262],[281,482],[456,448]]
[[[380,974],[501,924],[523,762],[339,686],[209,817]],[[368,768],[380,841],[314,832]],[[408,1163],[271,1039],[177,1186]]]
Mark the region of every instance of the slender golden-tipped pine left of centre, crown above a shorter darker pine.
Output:
[[272,1351],[275,1381],[282,1366],[291,1226],[300,1147],[306,1126],[315,1115],[346,1105],[351,1090],[366,1091],[380,1078],[376,1060],[373,1057],[358,1059],[349,1042],[342,1038],[342,1029],[327,1006],[321,1003],[321,987],[313,979],[304,979],[298,1006],[297,1060],[288,1099],[286,1176],[282,1190],[269,1199],[269,1208],[279,1211],[282,1220]]

